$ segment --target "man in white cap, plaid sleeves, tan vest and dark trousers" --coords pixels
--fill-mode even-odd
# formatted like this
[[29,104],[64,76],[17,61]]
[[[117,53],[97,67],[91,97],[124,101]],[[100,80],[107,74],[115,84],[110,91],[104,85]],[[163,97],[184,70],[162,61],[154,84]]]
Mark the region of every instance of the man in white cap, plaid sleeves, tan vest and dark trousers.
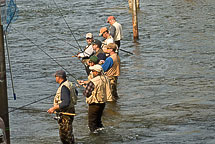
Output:
[[97,133],[103,129],[102,113],[107,101],[108,78],[102,73],[101,65],[90,67],[93,79],[87,84],[83,95],[86,97],[88,107],[88,126],[91,132]]

